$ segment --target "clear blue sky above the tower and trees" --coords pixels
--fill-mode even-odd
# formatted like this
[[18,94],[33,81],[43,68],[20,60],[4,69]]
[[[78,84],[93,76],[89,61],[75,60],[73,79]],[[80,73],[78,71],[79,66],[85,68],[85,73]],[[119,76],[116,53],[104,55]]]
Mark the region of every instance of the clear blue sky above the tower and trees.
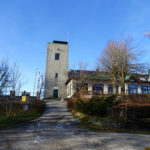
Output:
[[108,40],[130,35],[150,61],[150,0],[0,0],[0,59],[17,62],[33,91],[36,68],[45,73],[47,42],[69,42],[69,68],[94,69]]

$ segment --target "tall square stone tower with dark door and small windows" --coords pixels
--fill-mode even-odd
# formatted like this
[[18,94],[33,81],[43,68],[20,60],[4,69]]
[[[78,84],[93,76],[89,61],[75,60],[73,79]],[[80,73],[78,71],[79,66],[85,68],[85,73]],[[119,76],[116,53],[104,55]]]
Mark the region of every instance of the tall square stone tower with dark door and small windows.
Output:
[[45,98],[66,97],[68,79],[68,42],[53,41],[47,45]]

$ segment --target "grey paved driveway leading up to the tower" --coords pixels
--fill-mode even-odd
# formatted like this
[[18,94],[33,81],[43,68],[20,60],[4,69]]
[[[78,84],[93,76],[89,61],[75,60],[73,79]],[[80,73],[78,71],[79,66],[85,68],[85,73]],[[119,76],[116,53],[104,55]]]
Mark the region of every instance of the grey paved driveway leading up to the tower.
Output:
[[81,129],[60,101],[47,102],[37,121],[0,131],[0,150],[144,150],[148,145],[150,135]]

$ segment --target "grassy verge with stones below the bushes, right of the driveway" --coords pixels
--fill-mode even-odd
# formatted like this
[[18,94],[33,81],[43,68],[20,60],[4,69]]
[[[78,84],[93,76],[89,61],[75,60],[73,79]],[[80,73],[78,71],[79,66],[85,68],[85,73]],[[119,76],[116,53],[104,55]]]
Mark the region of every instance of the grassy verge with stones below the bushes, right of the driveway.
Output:
[[79,112],[73,112],[73,115],[75,118],[80,119],[79,127],[95,132],[150,134],[150,130],[148,129],[132,129],[130,127],[125,127],[122,125],[124,122],[119,122],[111,117],[90,116]]

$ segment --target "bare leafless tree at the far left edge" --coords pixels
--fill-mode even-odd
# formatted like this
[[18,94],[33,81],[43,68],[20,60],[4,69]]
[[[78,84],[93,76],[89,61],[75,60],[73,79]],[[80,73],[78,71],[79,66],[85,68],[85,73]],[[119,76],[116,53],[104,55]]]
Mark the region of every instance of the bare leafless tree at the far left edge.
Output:
[[23,85],[21,79],[21,72],[19,66],[15,63],[13,66],[8,64],[8,61],[0,61],[0,94],[2,91],[7,89],[12,90],[10,97],[6,98],[6,115],[9,117],[13,108],[13,101],[15,98],[14,92],[17,92]]

